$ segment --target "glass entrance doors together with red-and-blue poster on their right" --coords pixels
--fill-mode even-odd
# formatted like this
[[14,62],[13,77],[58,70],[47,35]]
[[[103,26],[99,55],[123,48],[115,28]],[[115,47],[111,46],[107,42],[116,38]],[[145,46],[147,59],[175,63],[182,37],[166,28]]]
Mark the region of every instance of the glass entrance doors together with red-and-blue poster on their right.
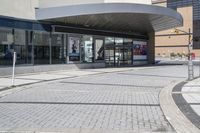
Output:
[[[139,47],[135,47],[135,42],[141,42],[141,45],[138,44]],[[135,51],[138,53],[136,54]],[[147,61],[147,41],[135,41],[130,38],[105,38],[105,63],[107,66],[131,66],[135,61]]]

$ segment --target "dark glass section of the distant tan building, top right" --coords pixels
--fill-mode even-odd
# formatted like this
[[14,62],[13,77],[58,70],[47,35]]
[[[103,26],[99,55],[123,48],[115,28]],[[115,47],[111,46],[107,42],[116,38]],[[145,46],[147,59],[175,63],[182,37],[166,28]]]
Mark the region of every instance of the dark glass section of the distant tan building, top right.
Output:
[[200,1],[199,0],[167,0],[167,7],[193,7],[193,48],[200,49]]

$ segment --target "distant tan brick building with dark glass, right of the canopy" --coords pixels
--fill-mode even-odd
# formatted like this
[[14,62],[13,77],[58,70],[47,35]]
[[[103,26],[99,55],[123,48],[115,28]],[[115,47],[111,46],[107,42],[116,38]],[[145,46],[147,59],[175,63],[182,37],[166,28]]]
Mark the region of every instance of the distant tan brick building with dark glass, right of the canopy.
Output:
[[[200,56],[200,1],[199,0],[154,0],[154,5],[164,6],[179,12],[183,16],[183,26],[177,29],[188,32],[194,37],[192,53]],[[155,56],[169,57],[170,54],[187,55],[188,35],[174,33],[173,29],[156,32]]]

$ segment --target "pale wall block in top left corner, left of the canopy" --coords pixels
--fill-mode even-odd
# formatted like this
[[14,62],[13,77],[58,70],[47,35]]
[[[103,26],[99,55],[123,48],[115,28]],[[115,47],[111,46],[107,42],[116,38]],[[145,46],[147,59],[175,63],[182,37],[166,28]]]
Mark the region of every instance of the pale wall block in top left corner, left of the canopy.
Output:
[[35,19],[38,0],[1,0],[0,15],[22,19]]

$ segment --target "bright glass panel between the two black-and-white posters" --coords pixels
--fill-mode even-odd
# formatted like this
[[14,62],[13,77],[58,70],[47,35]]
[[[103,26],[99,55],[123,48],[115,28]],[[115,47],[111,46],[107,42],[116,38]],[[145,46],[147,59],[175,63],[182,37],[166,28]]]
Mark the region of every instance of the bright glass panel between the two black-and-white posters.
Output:
[[93,37],[84,35],[81,39],[81,61],[93,62]]

